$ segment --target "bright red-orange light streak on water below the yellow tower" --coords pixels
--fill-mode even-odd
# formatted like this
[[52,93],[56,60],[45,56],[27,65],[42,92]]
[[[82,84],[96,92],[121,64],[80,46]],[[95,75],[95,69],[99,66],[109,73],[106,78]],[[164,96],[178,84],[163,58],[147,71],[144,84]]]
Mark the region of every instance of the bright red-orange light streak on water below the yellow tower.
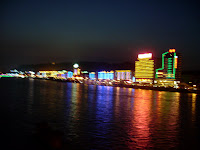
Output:
[[145,148],[150,140],[150,107],[152,91],[136,90],[129,131],[129,148]]

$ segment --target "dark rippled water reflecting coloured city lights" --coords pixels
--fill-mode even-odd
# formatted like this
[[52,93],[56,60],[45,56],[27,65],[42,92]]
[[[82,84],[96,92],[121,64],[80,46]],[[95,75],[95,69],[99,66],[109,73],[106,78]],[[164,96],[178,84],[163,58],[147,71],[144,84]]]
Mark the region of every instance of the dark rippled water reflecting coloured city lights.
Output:
[[64,149],[200,148],[194,93],[30,79],[0,87],[3,149],[44,149],[33,136],[42,121],[64,134]]

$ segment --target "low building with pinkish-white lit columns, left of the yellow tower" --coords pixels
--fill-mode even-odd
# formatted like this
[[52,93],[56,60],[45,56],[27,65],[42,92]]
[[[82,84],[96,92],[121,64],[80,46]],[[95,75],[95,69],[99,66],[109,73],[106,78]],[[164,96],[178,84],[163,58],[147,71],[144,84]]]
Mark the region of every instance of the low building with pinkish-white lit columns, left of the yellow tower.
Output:
[[131,80],[131,70],[115,70],[116,80]]

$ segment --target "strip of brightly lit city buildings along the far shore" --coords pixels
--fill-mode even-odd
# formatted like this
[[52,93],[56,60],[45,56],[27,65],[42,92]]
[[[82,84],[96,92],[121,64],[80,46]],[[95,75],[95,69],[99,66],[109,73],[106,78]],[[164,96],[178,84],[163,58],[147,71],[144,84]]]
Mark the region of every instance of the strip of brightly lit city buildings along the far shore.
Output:
[[[159,63],[159,62],[157,62]],[[75,63],[73,70],[32,70],[21,71],[17,69],[10,70],[9,73],[1,74],[0,77],[16,77],[29,79],[46,79],[62,82],[74,82],[81,84],[93,84],[104,86],[122,86],[132,88],[145,88],[154,90],[183,91],[199,93],[200,82],[189,81],[185,83],[181,78],[182,55],[175,49],[169,49],[162,54],[161,68],[155,64],[152,53],[138,54],[135,61],[135,68],[129,70],[121,68],[120,70],[111,70],[99,68],[92,70],[81,70],[81,66]],[[53,62],[52,65],[55,65]],[[133,70],[134,69],[134,70]]]

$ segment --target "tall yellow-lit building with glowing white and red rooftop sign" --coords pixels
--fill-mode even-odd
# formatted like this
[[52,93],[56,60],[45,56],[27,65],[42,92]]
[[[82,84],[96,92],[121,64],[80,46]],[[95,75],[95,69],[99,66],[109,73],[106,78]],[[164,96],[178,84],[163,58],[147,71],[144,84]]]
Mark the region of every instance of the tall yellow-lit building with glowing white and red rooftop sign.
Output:
[[154,60],[152,53],[139,54],[135,61],[135,79],[140,83],[152,83],[154,80]]

